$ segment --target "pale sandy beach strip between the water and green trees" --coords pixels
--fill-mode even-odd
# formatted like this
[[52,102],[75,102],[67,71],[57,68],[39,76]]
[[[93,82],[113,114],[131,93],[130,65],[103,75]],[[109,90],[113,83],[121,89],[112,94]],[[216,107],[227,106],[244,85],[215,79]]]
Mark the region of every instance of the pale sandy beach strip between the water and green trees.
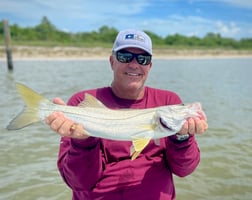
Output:
[[[110,48],[80,48],[80,47],[31,47],[12,46],[13,60],[87,60],[108,59]],[[252,50],[223,49],[153,49],[153,58],[236,58],[252,57]],[[5,47],[0,46],[0,60],[6,60]]]

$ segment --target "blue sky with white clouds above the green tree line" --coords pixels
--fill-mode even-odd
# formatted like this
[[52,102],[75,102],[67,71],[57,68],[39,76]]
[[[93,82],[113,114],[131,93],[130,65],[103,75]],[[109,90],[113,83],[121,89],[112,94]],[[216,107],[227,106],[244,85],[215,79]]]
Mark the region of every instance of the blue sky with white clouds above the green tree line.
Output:
[[173,34],[252,38],[252,0],[1,0],[0,20],[21,27],[38,25],[46,16],[66,32],[148,30]]

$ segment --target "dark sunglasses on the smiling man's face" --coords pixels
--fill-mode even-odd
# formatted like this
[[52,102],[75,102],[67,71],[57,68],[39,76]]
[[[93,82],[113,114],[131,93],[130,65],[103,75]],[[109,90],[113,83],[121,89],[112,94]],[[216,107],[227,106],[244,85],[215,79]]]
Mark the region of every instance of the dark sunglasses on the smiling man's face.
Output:
[[134,58],[136,58],[137,63],[140,65],[148,65],[151,62],[151,55],[148,53],[136,54],[121,50],[114,54],[116,55],[116,59],[121,63],[130,63]]

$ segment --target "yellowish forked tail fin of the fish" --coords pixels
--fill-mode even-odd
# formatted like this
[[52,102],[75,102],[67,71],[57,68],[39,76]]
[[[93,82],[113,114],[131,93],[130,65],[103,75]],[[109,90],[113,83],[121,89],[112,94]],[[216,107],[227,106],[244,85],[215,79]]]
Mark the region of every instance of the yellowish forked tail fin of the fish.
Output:
[[50,102],[22,83],[16,83],[16,89],[25,102],[24,109],[9,123],[7,130],[18,130],[39,122],[38,109],[42,102]]

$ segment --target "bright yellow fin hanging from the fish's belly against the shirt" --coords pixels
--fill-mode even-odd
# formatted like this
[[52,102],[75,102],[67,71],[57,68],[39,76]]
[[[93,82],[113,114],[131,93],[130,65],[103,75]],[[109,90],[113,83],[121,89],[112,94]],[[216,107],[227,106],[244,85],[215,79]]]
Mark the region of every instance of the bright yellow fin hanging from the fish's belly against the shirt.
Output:
[[149,144],[150,138],[137,138],[132,141],[131,160],[135,160],[142,150]]

